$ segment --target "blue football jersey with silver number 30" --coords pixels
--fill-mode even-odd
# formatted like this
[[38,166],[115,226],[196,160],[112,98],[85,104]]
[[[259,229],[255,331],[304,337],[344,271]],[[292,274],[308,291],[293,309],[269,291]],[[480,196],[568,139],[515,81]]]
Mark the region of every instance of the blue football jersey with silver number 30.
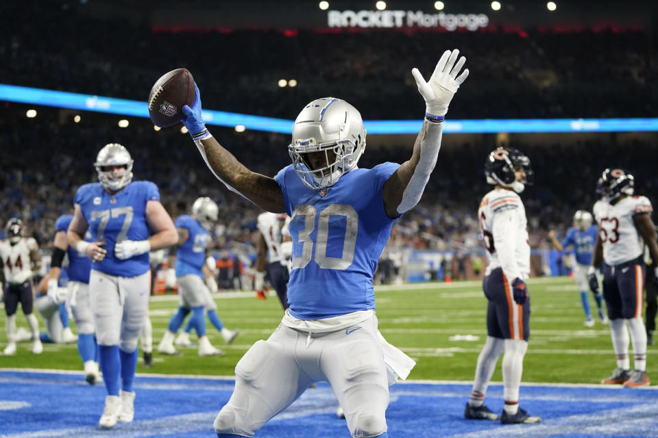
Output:
[[374,309],[372,276],[394,222],[384,209],[382,188],[399,166],[354,169],[325,192],[306,187],[293,166],[278,172],[275,179],[292,218],[288,302],[295,318]]

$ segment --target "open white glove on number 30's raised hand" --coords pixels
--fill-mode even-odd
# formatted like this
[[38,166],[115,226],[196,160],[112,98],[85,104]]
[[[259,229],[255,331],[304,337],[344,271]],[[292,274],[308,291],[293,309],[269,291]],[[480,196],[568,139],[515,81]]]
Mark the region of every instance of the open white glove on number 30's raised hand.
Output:
[[423,96],[423,99],[425,99],[425,116],[428,118],[443,120],[443,116],[448,112],[448,105],[450,105],[452,96],[468,77],[468,68],[461,75],[457,76],[459,70],[461,70],[466,62],[466,58],[462,56],[459,58],[457,64],[454,64],[458,55],[459,50],[457,49],[454,49],[452,52],[449,50],[443,52],[439,64],[437,64],[428,82],[425,81],[417,68],[411,70],[413,79],[416,80],[418,91]]

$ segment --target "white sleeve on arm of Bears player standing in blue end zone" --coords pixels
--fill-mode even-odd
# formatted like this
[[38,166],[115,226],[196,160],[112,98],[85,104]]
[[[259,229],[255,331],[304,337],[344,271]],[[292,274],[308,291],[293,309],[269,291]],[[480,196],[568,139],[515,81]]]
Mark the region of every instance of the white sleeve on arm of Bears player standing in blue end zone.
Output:
[[515,278],[521,277],[516,263],[516,245],[520,231],[518,209],[500,211],[493,215],[493,245],[496,246],[498,262],[511,283]]

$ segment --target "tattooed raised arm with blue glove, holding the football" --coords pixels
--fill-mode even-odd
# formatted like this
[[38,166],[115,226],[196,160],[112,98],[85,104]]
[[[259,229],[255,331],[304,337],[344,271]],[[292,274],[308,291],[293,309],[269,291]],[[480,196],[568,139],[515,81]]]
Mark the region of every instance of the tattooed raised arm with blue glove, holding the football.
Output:
[[[196,86],[196,85],[195,85]],[[183,123],[192,135],[208,168],[232,192],[247,198],[258,207],[273,213],[286,211],[283,194],[273,178],[252,172],[239,162],[212,136],[202,118],[199,88],[191,107],[183,107]]]

